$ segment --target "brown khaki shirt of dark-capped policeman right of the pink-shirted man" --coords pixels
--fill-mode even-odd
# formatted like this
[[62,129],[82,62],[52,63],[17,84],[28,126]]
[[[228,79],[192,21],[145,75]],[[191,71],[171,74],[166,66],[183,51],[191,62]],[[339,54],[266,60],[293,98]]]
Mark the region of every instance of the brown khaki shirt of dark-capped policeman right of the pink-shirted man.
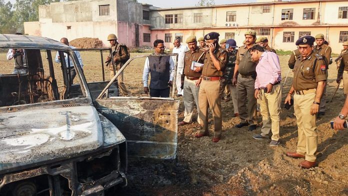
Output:
[[312,52],[307,57],[301,56],[296,60],[292,81],[295,90],[316,88],[317,82],[326,80],[327,69],[323,57],[321,58],[317,59],[315,52]]

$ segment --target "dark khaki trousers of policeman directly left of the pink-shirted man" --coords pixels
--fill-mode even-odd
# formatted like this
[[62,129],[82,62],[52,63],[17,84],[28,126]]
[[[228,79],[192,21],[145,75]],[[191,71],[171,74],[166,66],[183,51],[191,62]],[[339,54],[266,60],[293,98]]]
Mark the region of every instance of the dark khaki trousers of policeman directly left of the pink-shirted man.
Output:
[[237,101],[241,123],[249,122],[249,125],[257,123],[254,92],[255,79],[251,77],[244,78],[239,74],[237,79]]

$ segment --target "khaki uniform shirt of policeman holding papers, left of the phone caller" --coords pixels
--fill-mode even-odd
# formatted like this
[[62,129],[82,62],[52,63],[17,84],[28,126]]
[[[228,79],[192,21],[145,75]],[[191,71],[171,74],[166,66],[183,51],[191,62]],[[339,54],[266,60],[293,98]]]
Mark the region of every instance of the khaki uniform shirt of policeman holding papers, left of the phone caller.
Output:
[[[202,55],[202,56],[200,57],[200,55]],[[191,63],[192,63],[192,61],[203,63],[204,57],[205,57],[205,51],[203,49],[198,48],[198,47],[193,52],[191,50],[186,51],[185,57],[184,57],[184,63],[183,63],[184,68],[183,68],[183,73],[181,75],[181,80],[183,80],[185,76],[200,77],[202,69],[200,69],[199,72],[193,71],[191,69]],[[199,60],[198,60],[198,58],[199,58]]]

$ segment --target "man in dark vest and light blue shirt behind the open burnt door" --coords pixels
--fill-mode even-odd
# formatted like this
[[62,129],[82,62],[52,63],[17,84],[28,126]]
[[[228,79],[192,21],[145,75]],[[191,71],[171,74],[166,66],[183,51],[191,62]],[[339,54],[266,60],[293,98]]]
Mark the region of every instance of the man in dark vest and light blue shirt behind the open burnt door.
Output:
[[[142,74],[142,83],[144,92],[150,91],[153,97],[169,97],[170,87],[174,78],[174,61],[171,56],[160,56],[164,54],[164,41],[156,39],[153,42],[153,56],[145,59],[144,70]],[[148,74],[151,75],[150,85],[147,85]]]

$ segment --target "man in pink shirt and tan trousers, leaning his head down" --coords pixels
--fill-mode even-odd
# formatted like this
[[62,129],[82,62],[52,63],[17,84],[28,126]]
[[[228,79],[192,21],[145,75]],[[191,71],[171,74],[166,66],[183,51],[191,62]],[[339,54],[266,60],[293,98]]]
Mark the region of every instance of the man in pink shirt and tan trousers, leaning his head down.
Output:
[[259,99],[262,115],[261,134],[252,136],[254,139],[269,138],[272,131],[269,146],[279,145],[279,114],[281,104],[281,75],[279,58],[274,52],[268,52],[260,45],[254,45],[250,49],[252,61],[258,61],[256,65],[255,98]]

